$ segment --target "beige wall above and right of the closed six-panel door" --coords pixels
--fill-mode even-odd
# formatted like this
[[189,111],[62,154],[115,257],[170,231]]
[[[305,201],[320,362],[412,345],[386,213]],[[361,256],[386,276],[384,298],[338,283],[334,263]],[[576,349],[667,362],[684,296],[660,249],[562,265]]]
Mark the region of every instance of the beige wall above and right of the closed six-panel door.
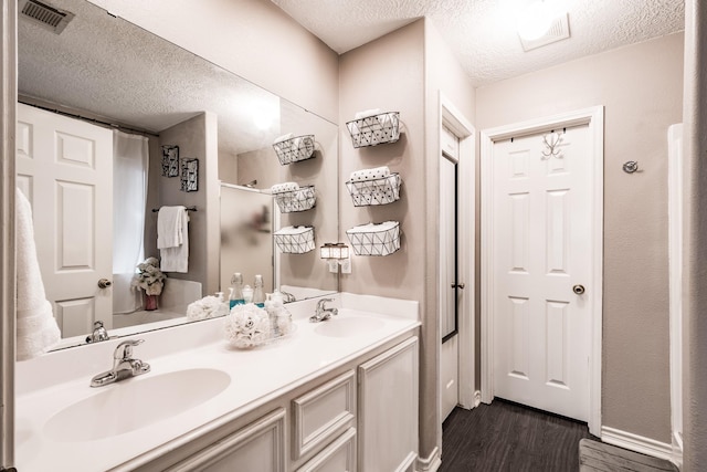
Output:
[[[602,424],[671,442],[667,127],[682,120],[683,35],[477,90],[477,129],[604,105]],[[641,171],[622,165],[637,160]]]

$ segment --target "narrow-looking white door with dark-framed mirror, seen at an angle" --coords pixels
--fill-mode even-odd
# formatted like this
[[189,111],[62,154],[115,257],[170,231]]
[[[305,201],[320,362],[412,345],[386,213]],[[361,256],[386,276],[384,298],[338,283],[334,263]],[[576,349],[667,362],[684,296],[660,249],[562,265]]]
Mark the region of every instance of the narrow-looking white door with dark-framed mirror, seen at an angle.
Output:
[[442,419],[458,403],[458,138],[446,127],[440,159],[440,335]]

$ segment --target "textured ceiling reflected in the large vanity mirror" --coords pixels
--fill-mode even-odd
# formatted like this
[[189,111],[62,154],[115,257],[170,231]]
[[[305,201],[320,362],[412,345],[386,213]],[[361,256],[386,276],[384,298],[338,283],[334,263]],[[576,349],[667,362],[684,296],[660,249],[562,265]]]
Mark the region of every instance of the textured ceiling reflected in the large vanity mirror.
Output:
[[[281,134],[281,113],[296,108],[85,0],[52,4],[76,17],[60,35],[21,19],[18,88],[23,96],[152,133],[212,112],[219,148],[228,154],[270,146]],[[254,107],[274,118],[271,128],[253,125]]]

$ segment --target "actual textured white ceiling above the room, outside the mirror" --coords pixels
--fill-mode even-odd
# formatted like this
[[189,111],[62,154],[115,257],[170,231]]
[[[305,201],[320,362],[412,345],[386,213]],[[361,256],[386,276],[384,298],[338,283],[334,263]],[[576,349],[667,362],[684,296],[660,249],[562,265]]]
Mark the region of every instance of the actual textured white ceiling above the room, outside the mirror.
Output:
[[524,52],[504,0],[272,1],[340,54],[428,17],[477,86],[682,31],[685,11],[683,0],[566,0],[571,38]]

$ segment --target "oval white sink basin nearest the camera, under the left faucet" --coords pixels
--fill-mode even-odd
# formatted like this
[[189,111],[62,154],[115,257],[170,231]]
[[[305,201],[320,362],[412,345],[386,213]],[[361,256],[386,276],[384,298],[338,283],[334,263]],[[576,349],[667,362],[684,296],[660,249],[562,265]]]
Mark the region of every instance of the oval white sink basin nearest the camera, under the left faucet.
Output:
[[231,377],[215,369],[145,374],[101,387],[103,391],[64,408],[50,418],[44,432],[64,442],[123,434],[203,403],[229,384]]

